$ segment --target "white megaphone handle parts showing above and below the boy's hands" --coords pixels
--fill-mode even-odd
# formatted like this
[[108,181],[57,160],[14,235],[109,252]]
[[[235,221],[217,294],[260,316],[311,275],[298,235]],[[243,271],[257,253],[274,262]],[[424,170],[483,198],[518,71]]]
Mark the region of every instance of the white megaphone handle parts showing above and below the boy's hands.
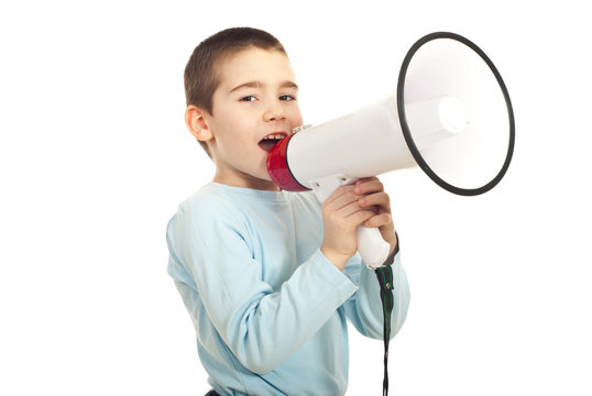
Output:
[[[317,198],[324,202],[337,188],[355,183],[355,178],[339,174],[310,180],[310,186]],[[369,268],[380,267],[391,251],[391,245],[382,238],[381,231],[377,228],[359,226],[357,235],[358,253],[362,256],[365,265]]]

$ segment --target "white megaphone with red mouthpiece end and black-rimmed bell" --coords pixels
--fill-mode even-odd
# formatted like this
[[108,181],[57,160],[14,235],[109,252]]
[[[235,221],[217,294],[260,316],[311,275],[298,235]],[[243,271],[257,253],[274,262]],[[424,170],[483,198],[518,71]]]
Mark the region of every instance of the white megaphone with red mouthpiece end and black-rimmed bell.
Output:
[[[447,32],[409,48],[396,96],[296,132],[270,151],[267,170],[279,188],[313,189],[321,201],[340,185],[415,165],[451,193],[483,194],[506,173],[515,135],[500,73],[475,44]],[[369,267],[388,251],[377,229],[358,228]]]

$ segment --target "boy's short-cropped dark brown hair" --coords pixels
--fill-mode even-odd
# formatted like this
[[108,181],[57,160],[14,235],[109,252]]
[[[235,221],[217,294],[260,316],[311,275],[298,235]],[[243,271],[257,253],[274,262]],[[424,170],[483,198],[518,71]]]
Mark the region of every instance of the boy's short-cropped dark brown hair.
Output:
[[[256,47],[286,54],[284,46],[267,32],[253,28],[231,28],[204,40],[195,50],[185,67],[185,98],[213,114],[213,92],[220,85],[219,65],[243,50]],[[206,142],[199,144],[210,155]],[[211,155],[210,155],[211,156]]]

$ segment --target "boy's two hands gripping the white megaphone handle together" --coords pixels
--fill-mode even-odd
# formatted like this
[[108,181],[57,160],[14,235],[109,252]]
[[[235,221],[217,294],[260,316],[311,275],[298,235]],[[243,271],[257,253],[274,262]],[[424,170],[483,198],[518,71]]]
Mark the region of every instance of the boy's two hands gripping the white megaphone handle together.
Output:
[[320,251],[339,270],[358,251],[357,231],[360,224],[377,227],[391,245],[397,240],[391,216],[391,201],[376,177],[341,186],[322,205],[325,235]]

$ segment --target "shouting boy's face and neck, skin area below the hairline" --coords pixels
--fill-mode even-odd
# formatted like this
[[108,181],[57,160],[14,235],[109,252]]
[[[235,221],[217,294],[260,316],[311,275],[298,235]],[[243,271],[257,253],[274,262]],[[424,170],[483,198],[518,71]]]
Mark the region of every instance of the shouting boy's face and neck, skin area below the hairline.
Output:
[[221,63],[219,77],[213,116],[204,117],[212,134],[215,182],[277,189],[265,165],[271,142],[264,140],[287,136],[303,123],[288,58],[276,51],[244,50]]

